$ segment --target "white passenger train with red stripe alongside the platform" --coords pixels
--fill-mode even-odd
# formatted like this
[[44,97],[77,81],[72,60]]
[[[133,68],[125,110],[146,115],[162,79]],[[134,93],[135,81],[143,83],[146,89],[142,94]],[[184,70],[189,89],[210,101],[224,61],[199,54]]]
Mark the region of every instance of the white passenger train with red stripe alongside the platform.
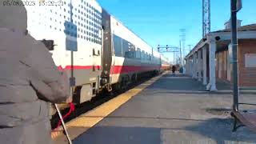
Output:
[[95,0],[40,3],[26,10],[30,35],[54,40],[50,53],[58,69],[69,75],[75,103],[170,68],[167,58]]

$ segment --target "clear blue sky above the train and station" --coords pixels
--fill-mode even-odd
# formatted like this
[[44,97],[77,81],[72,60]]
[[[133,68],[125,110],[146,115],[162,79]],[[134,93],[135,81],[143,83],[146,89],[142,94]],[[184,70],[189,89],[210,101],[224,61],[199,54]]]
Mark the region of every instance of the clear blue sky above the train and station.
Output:
[[[98,0],[115,18],[150,46],[179,46],[186,29],[186,54],[202,38],[202,0]],[[230,18],[230,0],[211,0],[211,30],[224,29]],[[256,0],[243,0],[238,18],[242,26],[256,23]],[[165,54],[173,60],[173,54]]]

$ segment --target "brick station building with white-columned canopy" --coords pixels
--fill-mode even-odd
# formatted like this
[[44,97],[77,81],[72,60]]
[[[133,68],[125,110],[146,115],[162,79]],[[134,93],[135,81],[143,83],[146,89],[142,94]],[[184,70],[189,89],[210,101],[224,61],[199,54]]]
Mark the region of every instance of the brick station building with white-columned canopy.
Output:
[[[232,83],[232,46],[230,22],[224,30],[210,32],[186,55],[186,74],[217,90],[218,80]],[[241,26],[238,20],[238,85],[256,88],[256,24]]]

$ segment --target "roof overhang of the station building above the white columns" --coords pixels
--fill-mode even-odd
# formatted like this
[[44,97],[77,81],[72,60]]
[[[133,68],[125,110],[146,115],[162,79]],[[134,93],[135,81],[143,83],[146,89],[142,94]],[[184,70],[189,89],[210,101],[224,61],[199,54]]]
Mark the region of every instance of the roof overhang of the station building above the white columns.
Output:
[[[256,39],[256,24],[241,26],[238,28],[238,39]],[[195,52],[200,50],[203,46],[208,45],[210,41],[215,41],[217,50],[226,49],[231,42],[231,32],[230,30],[218,30],[210,32],[205,38],[202,38],[193,50],[186,55],[185,59],[190,58]]]

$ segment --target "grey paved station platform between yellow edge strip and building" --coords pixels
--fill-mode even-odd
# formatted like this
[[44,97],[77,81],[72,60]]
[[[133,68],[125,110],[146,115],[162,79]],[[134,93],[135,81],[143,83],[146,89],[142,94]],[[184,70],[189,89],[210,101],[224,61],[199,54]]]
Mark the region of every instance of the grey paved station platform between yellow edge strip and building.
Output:
[[[190,77],[165,74],[73,142],[256,143],[256,134],[246,127],[232,133],[232,95],[204,90]],[[242,94],[242,101],[256,103],[255,94]]]

